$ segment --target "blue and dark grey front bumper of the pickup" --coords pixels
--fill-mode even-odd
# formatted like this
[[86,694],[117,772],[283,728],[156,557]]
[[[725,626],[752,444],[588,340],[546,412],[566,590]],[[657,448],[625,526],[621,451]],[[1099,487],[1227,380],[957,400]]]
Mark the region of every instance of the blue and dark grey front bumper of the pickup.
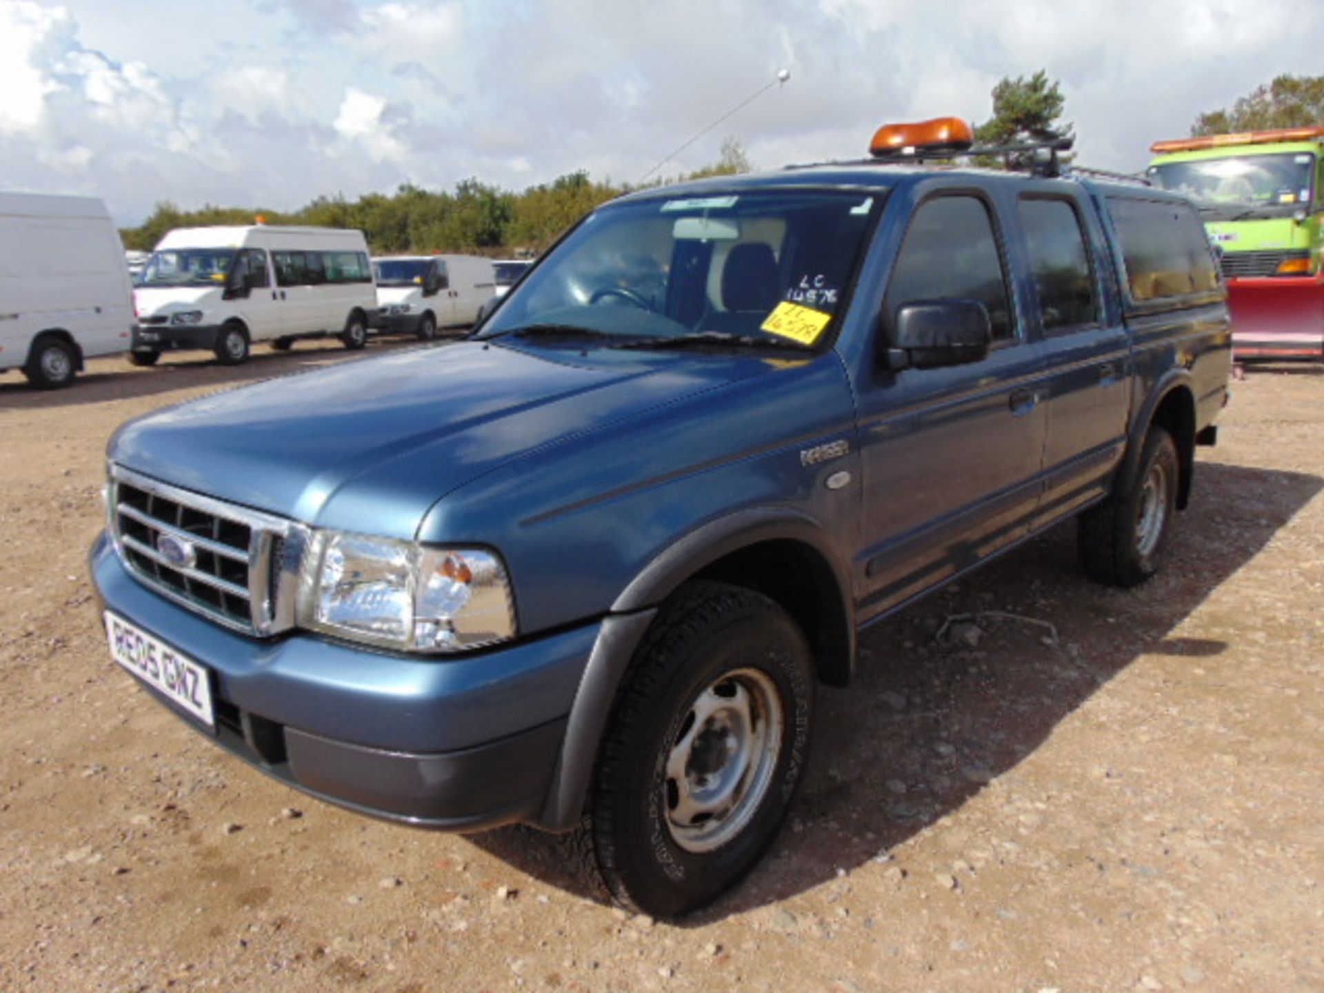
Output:
[[538,818],[601,626],[442,658],[260,639],[142,585],[105,534],[89,565],[105,609],[209,669],[218,744],[331,802],[446,830]]

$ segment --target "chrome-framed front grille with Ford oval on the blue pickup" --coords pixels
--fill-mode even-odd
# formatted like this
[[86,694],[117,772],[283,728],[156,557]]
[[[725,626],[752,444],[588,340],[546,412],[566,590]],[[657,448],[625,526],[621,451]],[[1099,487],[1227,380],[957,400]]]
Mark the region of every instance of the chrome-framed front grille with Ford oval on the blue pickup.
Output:
[[119,466],[109,499],[115,547],[147,585],[250,634],[293,626],[301,526]]

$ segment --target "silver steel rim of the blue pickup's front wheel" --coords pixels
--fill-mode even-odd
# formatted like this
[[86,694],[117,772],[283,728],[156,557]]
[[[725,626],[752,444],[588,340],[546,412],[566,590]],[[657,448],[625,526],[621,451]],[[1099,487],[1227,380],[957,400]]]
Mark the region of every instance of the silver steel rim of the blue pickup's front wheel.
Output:
[[781,692],[756,669],[726,673],[690,702],[662,784],[677,845],[712,851],[745,829],[772,785],[784,724]]

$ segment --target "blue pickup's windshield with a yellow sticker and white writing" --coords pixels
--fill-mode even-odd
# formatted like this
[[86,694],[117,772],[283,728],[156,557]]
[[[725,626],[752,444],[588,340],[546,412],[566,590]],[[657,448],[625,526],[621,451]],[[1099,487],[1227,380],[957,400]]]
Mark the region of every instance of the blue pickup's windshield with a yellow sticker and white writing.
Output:
[[763,189],[604,207],[511,291],[481,336],[818,344],[845,307],[884,197],[882,188]]

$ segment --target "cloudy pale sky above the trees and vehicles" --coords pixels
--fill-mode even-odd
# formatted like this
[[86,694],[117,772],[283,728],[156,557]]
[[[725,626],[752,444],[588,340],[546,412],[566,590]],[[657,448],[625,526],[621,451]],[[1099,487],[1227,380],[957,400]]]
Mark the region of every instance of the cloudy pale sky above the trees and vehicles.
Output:
[[989,117],[1047,69],[1080,160],[1137,169],[1278,73],[1324,74],[1321,0],[0,0],[0,189],[122,224],[315,196],[637,180],[739,139],[757,167],[855,158],[884,120]]

